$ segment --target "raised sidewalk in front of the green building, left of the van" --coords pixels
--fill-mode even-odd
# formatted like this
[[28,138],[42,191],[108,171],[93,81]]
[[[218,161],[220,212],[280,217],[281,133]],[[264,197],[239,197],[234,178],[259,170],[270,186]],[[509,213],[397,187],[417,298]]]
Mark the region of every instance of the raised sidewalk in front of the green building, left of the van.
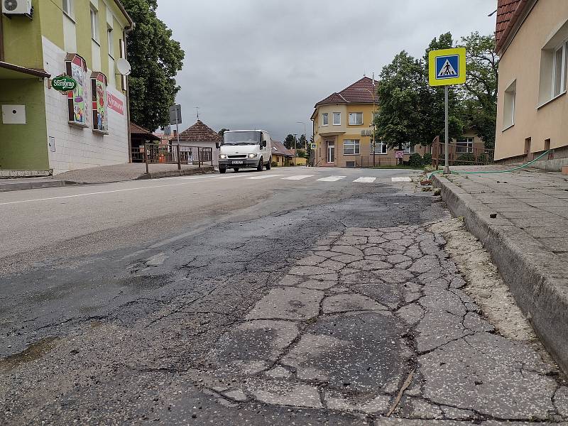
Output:
[[178,170],[177,164],[151,164],[149,165],[150,173],[146,174],[146,164],[144,163],[105,165],[102,167],[71,170],[45,178],[0,179],[0,192],[60,187],[77,183],[97,184],[123,182],[126,180],[169,178],[210,173],[213,170],[214,168],[210,165],[204,165],[201,168],[197,165],[182,165],[182,170]]

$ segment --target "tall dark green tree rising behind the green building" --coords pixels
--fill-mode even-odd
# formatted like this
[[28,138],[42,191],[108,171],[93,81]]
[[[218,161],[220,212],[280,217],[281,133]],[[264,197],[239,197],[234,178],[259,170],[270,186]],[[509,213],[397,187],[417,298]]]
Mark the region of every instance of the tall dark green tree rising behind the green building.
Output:
[[180,87],[175,76],[185,53],[172,31],[156,16],[158,0],[123,0],[136,22],[126,41],[132,65],[129,76],[131,121],[146,129],[170,124],[169,107]]

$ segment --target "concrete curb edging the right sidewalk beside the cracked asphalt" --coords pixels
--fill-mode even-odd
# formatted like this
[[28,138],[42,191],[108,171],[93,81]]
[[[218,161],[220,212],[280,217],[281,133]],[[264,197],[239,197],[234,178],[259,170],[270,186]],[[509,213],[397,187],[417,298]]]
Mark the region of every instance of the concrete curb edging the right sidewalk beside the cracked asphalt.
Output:
[[452,213],[464,217],[467,229],[491,254],[537,336],[568,374],[568,276],[560,259],[508,219],[491,219],[494,212],[446,178],[433,175],[432,181]]

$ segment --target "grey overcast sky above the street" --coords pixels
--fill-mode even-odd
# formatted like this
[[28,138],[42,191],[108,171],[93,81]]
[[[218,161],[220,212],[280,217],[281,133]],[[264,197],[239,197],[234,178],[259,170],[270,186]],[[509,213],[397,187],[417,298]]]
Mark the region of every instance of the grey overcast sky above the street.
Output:
[[[178,75],[182,129],[264,129],[310,136],[314,104],[400,50],[424,55],[451,31],[493,33],[496,0],[158,0],[185,50]],[[181,129],[180,129],[181,130]]]

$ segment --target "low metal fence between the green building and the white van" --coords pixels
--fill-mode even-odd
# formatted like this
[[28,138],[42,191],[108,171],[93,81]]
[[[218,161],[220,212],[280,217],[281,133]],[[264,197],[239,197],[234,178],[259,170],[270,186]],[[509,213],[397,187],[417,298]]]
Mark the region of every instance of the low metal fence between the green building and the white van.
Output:
[[145,143],[144,146],[133,148],[132,162],[146,163],[146,173],[148,173],[149,164],[177,164],[178,170],[181,170],[182,165],[187,164],[199,167],[206,163],[213,165],[213,148]]

